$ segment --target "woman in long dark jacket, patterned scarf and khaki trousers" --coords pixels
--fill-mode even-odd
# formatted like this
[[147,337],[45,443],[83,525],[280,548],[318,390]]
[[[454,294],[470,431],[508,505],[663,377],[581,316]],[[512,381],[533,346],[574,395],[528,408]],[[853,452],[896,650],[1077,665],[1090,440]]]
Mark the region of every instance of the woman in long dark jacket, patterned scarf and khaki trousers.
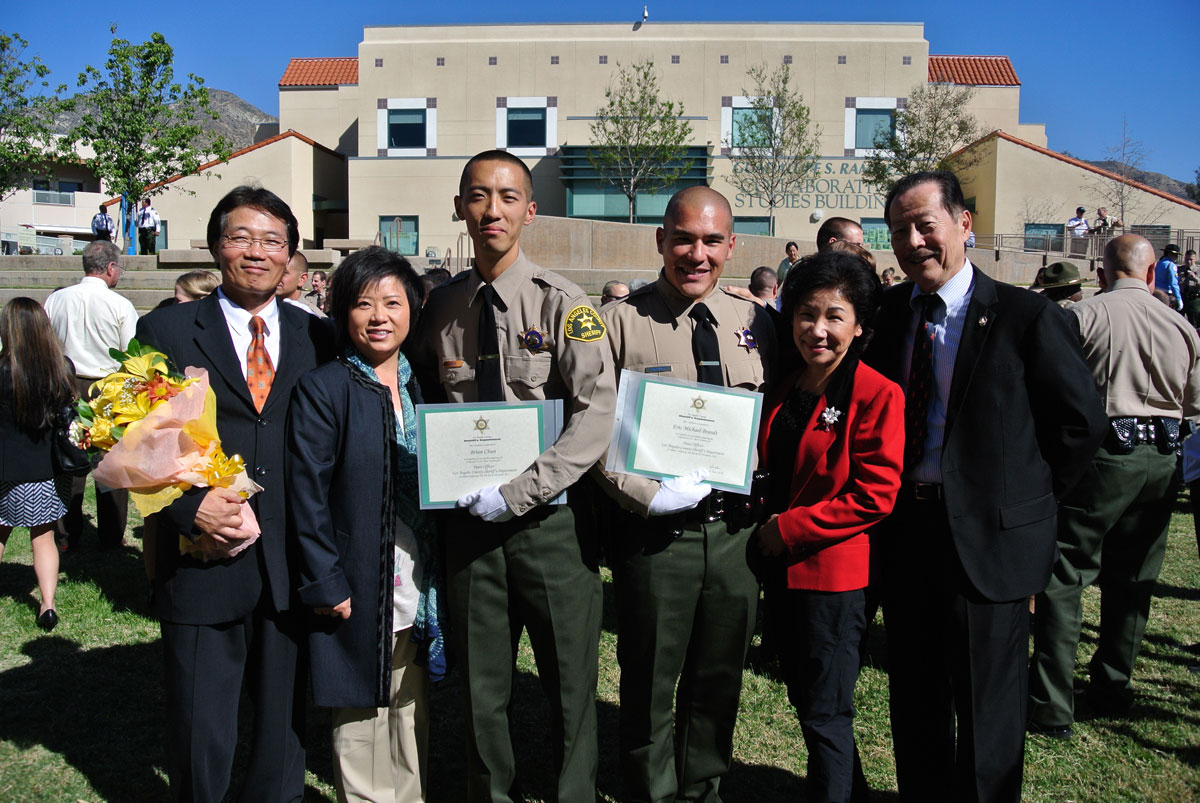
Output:
[[334,708],[338,799],[420,801],[426,688],[445,672],[440,569],[418,505],[420,397],[401,352],[424,287],[372,247],[342,263],[330,296],[343,354],[300,379],[288,412],[299,595],[331,617],[308,639],[313,695]]

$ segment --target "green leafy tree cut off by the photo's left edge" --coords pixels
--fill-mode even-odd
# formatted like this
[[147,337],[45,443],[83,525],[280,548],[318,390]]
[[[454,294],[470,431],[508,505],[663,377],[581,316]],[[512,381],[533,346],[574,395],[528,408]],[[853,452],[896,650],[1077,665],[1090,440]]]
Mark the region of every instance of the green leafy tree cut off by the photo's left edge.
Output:
[[0,200],[28,186],[30,175],[53,155],[50,131],[61,108],[50,89],[49,67],[40,56],[25,59],[29,42],[0,31]]

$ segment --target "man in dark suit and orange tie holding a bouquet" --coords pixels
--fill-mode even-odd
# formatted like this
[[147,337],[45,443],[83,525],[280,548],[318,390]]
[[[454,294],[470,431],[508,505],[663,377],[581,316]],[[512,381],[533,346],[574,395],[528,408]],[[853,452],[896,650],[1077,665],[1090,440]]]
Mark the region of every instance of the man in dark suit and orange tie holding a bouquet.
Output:
[[[209,217],[220,289],[149,313],[137,337],[184,370],[208,368],[217,430],[263,491],[193,489],[156,516],[155,612],[166,655],[167,756],[175,799],[220,801],[229,786],[242,681],[254,699],[250,763],[239,799],[299,801],[304,748],[296,712],[298,625],[284,545],[284,423],[292,388],[332,356],[325,322],[278,304],[275,288],[299,244],[277,196],[238,187]],[[262,537],[246,538],[245,505]],[[179,537],[206,559],[181,556]]]

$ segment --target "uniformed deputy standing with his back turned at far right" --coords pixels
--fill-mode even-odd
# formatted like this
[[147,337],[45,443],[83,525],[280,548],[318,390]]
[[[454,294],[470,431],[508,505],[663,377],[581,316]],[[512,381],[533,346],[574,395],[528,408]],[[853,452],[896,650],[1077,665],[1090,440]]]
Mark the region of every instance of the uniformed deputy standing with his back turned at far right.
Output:
[[1104,615],[1088,703],[1102,717],[1129,712],[1133,663],[1178,491],[1181,419],[1200,417],[1200,338],[1151,295],[1153,246],[1136,234],[1109,240],[1100,277],[1105,292],[1069,312],[1110,431],[1058,505],[1058,562],[1033,624],[1028,727],[1054,738],[1070,738],[1080,595],[1097,581]]

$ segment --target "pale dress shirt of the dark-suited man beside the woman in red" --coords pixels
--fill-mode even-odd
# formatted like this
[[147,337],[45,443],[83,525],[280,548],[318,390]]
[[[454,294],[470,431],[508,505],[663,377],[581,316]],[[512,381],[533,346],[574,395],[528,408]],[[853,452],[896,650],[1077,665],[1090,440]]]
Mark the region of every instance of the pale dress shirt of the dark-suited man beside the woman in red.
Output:
[[[962,270],[950,276],[949,281],[937,288],[942,304],[932,313],[929,322],[934,331],[934,392],[929,397],[929,409],[925,418],[925,449],[907,479],[916,483],[942,481],[942,444],[946,441],[946,414],[950,402],[950,383],[954,380],[954,361],[959,355],[959,342],[962,340],[962,323],[966,320],[967,305],[974,290],[974,268],[968,259]],[[913,287],[912,300],[913,323],[905,340],[904,365],[912,365],[912,343],[917,336],[917,323],[920,314],[917,296],[920,288]],[[908,373],[905,371],[905,389]]]

